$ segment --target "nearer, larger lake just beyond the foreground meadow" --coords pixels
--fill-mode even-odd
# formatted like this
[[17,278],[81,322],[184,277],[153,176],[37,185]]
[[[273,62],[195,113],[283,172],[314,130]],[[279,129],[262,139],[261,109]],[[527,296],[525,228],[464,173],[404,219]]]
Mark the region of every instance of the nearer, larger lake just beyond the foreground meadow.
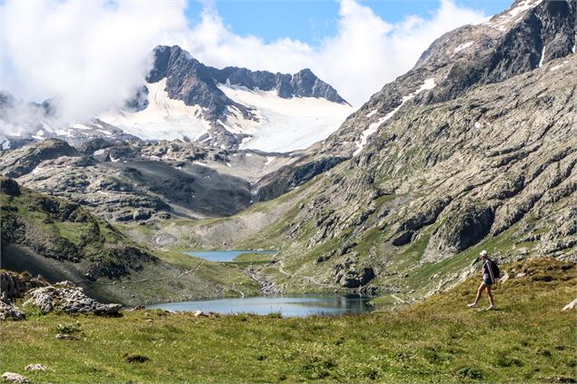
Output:
[[364,313],[373,310],[371,298],[335,294],[309,294],[301,296],[257,296],[214,300],[194,300],[147,305],[151,310],[174,310],[267,315],[280,312],[284,317],[312,315],[336,316],[345,313]]

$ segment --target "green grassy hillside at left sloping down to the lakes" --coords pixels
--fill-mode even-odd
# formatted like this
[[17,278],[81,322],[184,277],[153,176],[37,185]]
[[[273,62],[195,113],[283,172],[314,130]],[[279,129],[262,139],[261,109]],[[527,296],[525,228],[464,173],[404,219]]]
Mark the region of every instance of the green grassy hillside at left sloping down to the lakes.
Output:
[[[4,180],[4,179],[2,179]],[[54,244],[58,241],[74,244],[80,251],[81,262],[61,261],[63,268],[77,270],[82,276],[91,265],[109,265],[118,268],[123,265],[124,254],[111,255],[107,250],[114,247],[134,247],[142,249],[168,263],[159,264],[143,261],[142,269],[130,271],[129,275],[109,279],[101,277],[97,281],[85,281],[97,296],[103,300],[122,302],[127,305],[166,300],[188,300],[191,297],[238,296],[239,290],[246,295],[260,293],[260,287],[238,266],[224,265],[187,256],[175,251],[154,251],[131,241],[116,227],[95,217],[82,207],[75,208],[83,222],[61,220],[54,213],[47,212],[41,202],[51,202],[54,206],[66,207],[70,202],[34,192],[20,187],[21,194],[8,196],[0,193],[0,206],[11,212],[2,212],[25,223],[26,240],[21,244],[29,247],[30,240],[39,244]],[[65,208],[59,208],[64,210]],[[5,226],[3,226],[5,228]],[[15,231],[8,228],[5,231]],[[38,251],[45,256],[42,251]],[[55,248],[55,253],[67,255],[63,249]],[[7,255],[4,255],[7,257]],[[130,269],[131,265],[128,264]],[[124,287],[124,288],[123,288]]]

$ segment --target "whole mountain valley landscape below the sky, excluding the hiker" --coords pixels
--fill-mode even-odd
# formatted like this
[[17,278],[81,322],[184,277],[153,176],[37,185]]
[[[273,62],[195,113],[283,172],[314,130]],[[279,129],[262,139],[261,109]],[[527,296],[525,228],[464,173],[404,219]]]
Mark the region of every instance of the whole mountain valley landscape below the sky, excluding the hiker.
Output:
[[517,0],[355,106],[163,44],[82,121],[0,90],[3,369],[574,382],[575,20]]

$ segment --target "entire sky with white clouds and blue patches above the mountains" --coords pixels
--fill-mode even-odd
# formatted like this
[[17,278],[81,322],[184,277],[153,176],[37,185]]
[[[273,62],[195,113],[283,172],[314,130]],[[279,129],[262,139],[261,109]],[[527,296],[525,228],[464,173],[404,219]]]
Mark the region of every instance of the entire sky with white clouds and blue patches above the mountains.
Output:
[[310,68],[360,106],[433,40],[512,0],[0,0],[0,89],[79,121],[144,82],[156,44],[204,64]]

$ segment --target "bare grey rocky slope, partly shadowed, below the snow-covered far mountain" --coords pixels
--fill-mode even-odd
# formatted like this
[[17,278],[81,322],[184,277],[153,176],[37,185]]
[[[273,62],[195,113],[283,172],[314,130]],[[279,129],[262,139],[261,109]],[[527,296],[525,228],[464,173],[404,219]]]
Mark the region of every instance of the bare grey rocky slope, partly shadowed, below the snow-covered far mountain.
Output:
[[48,139],[0,153],[0,173],[106,220],[221,217],[246,209],[254,182],[296,155],[226,151],[185,142]]

